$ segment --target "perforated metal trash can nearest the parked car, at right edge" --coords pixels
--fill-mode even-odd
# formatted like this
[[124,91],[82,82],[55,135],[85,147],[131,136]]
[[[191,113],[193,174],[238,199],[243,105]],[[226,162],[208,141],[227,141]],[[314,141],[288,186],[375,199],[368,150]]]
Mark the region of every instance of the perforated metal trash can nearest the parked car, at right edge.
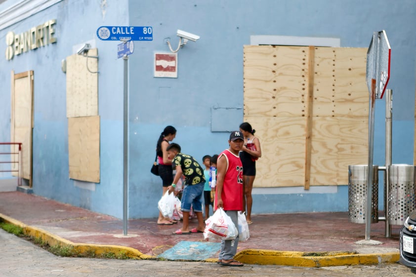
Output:
[[389,166],[388,215],[389,224],[403,225],[416,208],[415,166],[393,164]]

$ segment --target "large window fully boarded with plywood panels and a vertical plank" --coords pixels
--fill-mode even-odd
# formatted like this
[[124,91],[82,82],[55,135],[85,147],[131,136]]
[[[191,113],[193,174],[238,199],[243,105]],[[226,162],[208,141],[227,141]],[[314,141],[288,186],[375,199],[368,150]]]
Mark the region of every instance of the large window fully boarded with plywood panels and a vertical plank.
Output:
[[255,187],[348,184],[368,160],[366,48],[245,46],[244,120],[262,158]]

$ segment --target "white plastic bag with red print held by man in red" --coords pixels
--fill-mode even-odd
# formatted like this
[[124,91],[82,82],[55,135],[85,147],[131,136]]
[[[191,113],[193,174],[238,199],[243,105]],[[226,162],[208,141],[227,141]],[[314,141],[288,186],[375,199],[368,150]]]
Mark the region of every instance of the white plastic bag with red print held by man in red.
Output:
[[217,209],[205,223],[207,224],[204,230],[206,240],[210,238],[234,239],[238,236],[236,226],[222,208]]

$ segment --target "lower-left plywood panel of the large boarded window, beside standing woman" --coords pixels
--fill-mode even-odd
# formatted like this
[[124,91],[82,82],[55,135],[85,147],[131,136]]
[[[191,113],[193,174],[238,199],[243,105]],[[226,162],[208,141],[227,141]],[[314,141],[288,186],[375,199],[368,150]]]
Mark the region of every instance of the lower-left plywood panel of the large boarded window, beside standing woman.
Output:
[[262,157],[254,187],[291,187],[304,182],[305,119],[245,118],[256,129]]

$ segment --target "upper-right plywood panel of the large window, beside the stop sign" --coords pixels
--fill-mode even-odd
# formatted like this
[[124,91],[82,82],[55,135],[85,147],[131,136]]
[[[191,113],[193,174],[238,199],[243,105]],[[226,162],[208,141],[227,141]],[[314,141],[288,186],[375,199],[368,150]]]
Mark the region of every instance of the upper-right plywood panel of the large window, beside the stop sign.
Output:
[[315,117],[368,117],[367,48],[315,47]]

